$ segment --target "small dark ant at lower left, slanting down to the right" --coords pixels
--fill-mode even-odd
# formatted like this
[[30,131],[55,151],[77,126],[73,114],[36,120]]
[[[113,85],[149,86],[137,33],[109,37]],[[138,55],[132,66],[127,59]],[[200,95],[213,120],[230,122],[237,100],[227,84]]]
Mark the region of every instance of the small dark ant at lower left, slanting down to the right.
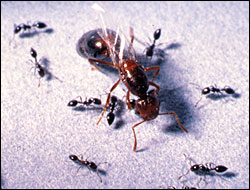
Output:
[[82,158],[82,155],[81,155],[81,159],[79,159],[76,155],[74,154],[71,154],[69,155],[69,159],[72,160],[73,162],[75,162],[76,164],[80,165],[80,167],[77,169],[77,172],[80,170],[80,168],[82,168],[83,166],[86,166],[89,171],[90,170],[93,170],[97,173],[98,177],[100,178],[100,181],[102,183],[102,178],[101,176],[99,175],[99,170],[98,170],[98,166],[100,164],[106,164],[107,162],[102,162],[102,163],[99,163],[98,165],[96,165],[96,163],[92,162],[92,161],[88,161],[87,159],[86,160],[83,160]]

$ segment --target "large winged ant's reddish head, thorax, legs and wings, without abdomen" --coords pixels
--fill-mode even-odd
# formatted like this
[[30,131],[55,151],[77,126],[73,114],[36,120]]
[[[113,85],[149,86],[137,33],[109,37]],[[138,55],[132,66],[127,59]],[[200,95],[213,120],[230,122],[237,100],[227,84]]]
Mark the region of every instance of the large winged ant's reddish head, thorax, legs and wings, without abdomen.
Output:
[[[104,11],[98,4],[94,4],[92,7],[98,11],[100,11],[100,10]],[[99,16],[101,17],[101,20],[103,21],[102,15],[99,14]],[[103,23],[103,25],[105,26],[104,23]],[[132,47],[133,41],[135,38],[134,34],[133,34],[133,29],[130,27],[131,41],[128,45],[126,55],[124,53],[125,52],[125,44],[126,44],[125,39],[126,38],[123,34],[120,35],[121,46],[120,46],[119,54],[117,51],[114,51],[115,45],[108,38],[108,32],[107,32],[105,27],[103,28],[102,34],[100,34],[100,36],[103,38],[103,40],[105,40],[105,42],[107,44],[107,48],[108,48],[112,63],[102,61],[102,60],[92,59],[92,58],[89,58],[88,60],[90,63],[97,62],[97,63],[113,66],[114,68],[116,68],[119,71],[120,78],[118,79],[118,81],[115,82],[115,84],[112,86],[112,88],[109,91],[104,110],[103,110],[103,112],[102,112],[102,114],[97,122],[97,125],[100,123],[105,111],[107,110],[107,107],[108,107],[108,105],[110,103],[110,99],[111,99],[111,93],[118,86],[118,84],[122,81],[128,89],[127,96],[126,96],[126,99],[127,99],[126,103],[127,103],[128,108],[129,109],[132,108],[132,106],[130,104],[130,93],[132,93],[135,96],[138,96],[139,99],[135,102],[135,108],[140,113],[140,117],[142,117],[142,119],[143,119],[143,121],[135,124],[132,127],[134,139],[135,139],[134,148],[133,148],[134,151],[136,151],[136,146],[137,146],[136,134],[135,134],[135,130],[134,130],[135,127],[137,127],[138,125],[142,124],[145,121],[155,119],[158,115],[174,115],[175,119],[176,119],[177,123],[179,124],[179,126],[181,127],[181,129],[187,133],[188,131],[182,126],[176,113],[174,113],[174,112],[159,113],[160,103],[159,103],[159,100],[157,98],[157,94],[160,90],[160,87],[157,84],[155,84],[153,81],[157,77],[160,68],[158,66],[144,68],[138,62],[138,60],[136,58],[135,50]],[[118,62],[115,59],[116,57],[119,58]],[[155,71],[152,81],[148,81],[147,75],[145,74],[145,72],[148,72],[148,71]],[[156,88],[156,90],[153,93],[147,93],[150,85]]]

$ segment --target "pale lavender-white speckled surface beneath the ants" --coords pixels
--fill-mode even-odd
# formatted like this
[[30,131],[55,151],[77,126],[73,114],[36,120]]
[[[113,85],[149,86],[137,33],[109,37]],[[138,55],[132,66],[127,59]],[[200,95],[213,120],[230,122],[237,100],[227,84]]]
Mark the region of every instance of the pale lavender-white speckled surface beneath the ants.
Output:
[[[159,41],[181,44],[168,51],[156,82],[162,112],[177,112],[190,133],[174,130],[171,116],[160,116],[136,128],[138,149],[145,150],[134,153],[131,127],[140,121],[134,112],[125,109],[119,118],[123,125],[115,129],[105,119],[96,126],[100,112],[67,107],[79,95],[99,97],[117,80],[92,71],[76,53],[81,35],[99,27],[91,2],[1,2],[2,188],[180,188],[177,178],[189,167],[183,153],[235,174],[208,177],[212,182],[206,188],[249,188],[249,2],[104,4],[116,23],[131,25],[141,40],[161,28]],[[27,21],[43,21],[54,33],[16,37],[16,47],[9,46],[14,23]],[[50,60],[52,73],[63,83],[42,80],[37,88],[38,79],[25,63],[31,47]],[[143,51],[136,42],[135,49]],[[240,97],[204,99],[195,109],[200,91],[190,82],[230,85]],[[114,92],[120,99],[123,89],[119,85]],[[87,168],[74,176],[78,167],[70,154],[107,161],[104,182]],[[188,178],[189,186],[199,180],[192,174]]]

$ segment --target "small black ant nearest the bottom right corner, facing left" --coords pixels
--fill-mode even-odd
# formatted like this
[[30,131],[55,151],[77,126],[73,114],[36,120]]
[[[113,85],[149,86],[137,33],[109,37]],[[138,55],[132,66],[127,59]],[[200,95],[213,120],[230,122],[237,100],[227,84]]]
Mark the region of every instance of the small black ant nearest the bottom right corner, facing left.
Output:
[[[223,165],[216,166],[212,162],[206,163],[206,164],[194,164],[194,165],[191,165],[191,159],[188,158],[186,156],[186,154],[183,154],[183,155],[185,156],[186,159],[189,160],[190,169],[187,171],[186,174],[180,176],[178,178],[178,180],[180,180],[183,176],[186,176],[189,173],[189,171],[192,171],[192,172],[194,172],[195,174],[198,174],[198,175],[204,175],[204,178],[205,178],[206,174],[210,174],[211,171],[215,171],[217,173],[223,173],[223,172],[227,171],[227,169],[228,169],[227,167],[225,167]],[[200,181],[201,180],[202,180],[202,177],[200,177]],[[200,183],[200,181],[199,181],[199,183]],[[205,181],[205,179],[204,179],[204,181]],[[205,181],[205,183],[207,183],[207,182]]]

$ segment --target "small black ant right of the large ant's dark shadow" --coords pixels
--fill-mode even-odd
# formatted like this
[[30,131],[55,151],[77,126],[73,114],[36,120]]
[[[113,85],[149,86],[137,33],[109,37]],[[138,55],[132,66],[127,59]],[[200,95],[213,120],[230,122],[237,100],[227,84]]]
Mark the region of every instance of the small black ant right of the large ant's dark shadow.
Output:
[[[199,85],[194,84],[194,83],[190,83],[190,84],[199,86]],[[217,88],[216,85],[214,85],[214,86],[203,88],[202,91],[201,91],[201,95],[208,95],[208,94],[211,94],[211,93],[221,94],[222,92],[225,92],[226,94],[229,94],[229,95],[234,95],[236,93],[234,91],[234,89],[232,89],[230,86],[225,86],[224,88],[220,89],[220,88]],[[195,107],[198,105],[198,103],[201,101],[201,99],[202,99],[202,97],[195,104]]]

